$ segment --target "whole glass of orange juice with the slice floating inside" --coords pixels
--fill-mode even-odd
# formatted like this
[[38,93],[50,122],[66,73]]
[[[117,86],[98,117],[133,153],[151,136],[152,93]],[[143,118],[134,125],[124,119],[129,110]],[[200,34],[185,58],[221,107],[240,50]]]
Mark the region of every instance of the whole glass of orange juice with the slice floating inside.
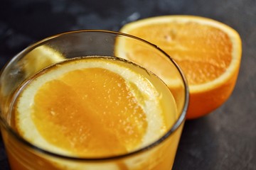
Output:
[[156,45],[107,30],[62,33],[18,53],[0,76],[11,169],[172,168],[188,87]]

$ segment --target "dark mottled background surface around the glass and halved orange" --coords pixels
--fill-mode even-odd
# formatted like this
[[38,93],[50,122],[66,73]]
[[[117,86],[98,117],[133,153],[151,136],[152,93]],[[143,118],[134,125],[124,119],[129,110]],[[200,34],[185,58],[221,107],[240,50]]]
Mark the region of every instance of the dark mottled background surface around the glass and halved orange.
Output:
[[[119,30],[130,21],[175,14],[205,16],[235,28],[243,51],[229,100],[210,115],[186,121],[174,169],[256,169],[255,0],[1,0],[0,67],[26,46],[56,33]],[[9,169],[1,139],[0,169]]]

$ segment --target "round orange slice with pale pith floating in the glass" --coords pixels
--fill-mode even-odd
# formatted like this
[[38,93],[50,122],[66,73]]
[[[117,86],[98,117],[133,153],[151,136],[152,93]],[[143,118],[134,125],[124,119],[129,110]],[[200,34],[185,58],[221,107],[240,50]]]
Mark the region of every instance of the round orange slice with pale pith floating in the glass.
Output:
[[18,132],[43,149],[78,157],[124,154],[161,137],[170,124],[161,94],[114,61],[69,60],[37,74],[16,103]]

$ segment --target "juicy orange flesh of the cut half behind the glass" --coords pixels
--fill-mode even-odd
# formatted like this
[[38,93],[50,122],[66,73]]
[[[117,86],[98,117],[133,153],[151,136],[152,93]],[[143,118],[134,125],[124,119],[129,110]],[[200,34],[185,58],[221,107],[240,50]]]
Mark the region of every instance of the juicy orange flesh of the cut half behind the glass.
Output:
[[204,84],[220,77],[232,60],[230,38],[212,26],[192,22],[157,23],[136,28],[129,34],[158,45],[173,57],[190,85]]

